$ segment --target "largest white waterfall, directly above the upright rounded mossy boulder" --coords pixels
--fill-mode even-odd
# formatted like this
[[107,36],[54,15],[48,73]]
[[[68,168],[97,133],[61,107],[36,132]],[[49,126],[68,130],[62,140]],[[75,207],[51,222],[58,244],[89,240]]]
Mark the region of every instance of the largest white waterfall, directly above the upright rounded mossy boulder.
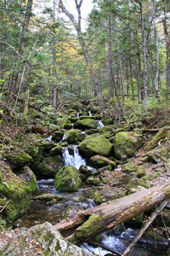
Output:
[[62,156],[65,162],[65,166],[71,165],[78,169],[81,165],[86,165],[86,160],[84,160],[79,154],[77,145],[72,145],[71,147],[72,148],[64,147],[62,149]]

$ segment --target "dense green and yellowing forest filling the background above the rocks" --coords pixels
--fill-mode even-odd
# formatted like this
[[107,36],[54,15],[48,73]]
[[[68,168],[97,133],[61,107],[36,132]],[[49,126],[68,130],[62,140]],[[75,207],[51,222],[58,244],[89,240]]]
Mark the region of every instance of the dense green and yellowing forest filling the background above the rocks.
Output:
[[74,4],[76,15],[66,1],[0,2],[1,107],[25,113],[21,97],[52,110],[97,98],[123,116],[167,108],[169,2],[96,0],[85,32],[82,0]]

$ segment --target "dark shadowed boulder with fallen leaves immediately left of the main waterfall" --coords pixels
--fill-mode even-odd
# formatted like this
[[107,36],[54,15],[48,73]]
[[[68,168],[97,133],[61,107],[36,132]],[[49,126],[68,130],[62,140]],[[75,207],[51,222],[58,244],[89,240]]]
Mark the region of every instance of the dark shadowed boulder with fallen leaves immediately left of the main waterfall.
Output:
[[55,177],[62,166],[64,166],[64,161],[59,154],[45,157],[42,163],[37,166],[37,175],[40,177]]

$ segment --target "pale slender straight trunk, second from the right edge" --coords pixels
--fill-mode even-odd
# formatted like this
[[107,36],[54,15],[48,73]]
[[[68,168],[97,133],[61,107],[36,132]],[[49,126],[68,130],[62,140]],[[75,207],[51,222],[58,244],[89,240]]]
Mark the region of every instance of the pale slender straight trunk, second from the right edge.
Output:
[[154,87],[156,90],[157,96],[159,96],[159,44],[157,39],[157,30],[156,30],[156,9],[155,9],[155,0],[152,0],[152,14],[153,14],[153,22],[154,22],[154,33],[155,33],[155,41],[156,41],[156,76],[154,79]]

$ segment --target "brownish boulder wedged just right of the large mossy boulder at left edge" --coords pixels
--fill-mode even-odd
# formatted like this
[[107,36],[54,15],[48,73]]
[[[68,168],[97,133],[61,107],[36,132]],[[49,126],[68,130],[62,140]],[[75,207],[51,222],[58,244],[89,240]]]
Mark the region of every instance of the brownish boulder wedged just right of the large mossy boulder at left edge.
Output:
[[37,192],[37,178],[34,172],[31,171],[30,167],[23,167],[20,172],[15,173],[18,177],[26,181],[27,185],[31,187],[32,193]]

